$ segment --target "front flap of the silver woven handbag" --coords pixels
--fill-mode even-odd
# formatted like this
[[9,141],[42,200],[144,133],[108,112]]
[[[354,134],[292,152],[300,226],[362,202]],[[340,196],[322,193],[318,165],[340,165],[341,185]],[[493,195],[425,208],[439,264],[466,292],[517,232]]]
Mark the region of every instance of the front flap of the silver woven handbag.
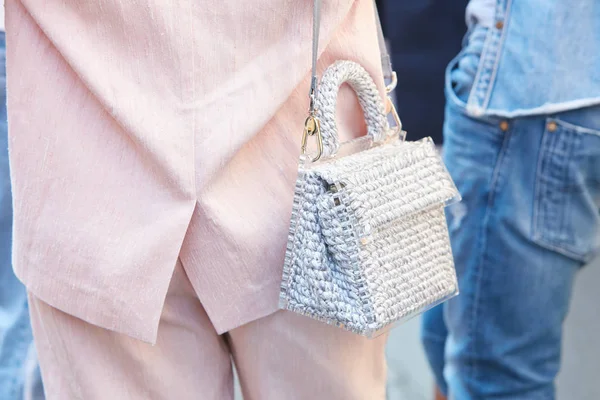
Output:
[[460,200],[460,194],[431,139],[397,141],[311,168],[370,228]]

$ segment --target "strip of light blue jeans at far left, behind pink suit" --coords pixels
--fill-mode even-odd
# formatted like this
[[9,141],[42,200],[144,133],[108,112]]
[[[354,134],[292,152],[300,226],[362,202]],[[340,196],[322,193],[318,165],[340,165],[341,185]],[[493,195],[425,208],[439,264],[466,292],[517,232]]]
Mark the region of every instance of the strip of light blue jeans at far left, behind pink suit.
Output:
[[[42,399],[27,292],[11,264],[12,200],[6,123],[5,37],[0,32],[0,399]],[[27,396],[25,395],[27,393]]]

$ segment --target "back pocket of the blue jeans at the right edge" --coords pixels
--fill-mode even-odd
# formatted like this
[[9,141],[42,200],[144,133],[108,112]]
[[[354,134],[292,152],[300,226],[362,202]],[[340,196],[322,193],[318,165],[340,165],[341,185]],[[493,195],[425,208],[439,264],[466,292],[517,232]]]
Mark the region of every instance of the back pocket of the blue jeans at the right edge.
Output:
[[533,240],[587,262],[600,249],[600,131],[546,120],[537,166]]

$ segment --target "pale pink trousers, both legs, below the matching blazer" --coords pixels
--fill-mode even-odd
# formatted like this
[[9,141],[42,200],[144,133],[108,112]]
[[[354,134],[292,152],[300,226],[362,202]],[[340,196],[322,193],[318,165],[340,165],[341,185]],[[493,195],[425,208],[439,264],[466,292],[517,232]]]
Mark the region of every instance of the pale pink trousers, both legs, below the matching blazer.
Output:
[[[132,285],[135,283],[132,282]],[[290,312],[217,335],[175,268],[156,345],[88,324],[30,295],[48,400],[383,400],[386,336],[366,339]]]

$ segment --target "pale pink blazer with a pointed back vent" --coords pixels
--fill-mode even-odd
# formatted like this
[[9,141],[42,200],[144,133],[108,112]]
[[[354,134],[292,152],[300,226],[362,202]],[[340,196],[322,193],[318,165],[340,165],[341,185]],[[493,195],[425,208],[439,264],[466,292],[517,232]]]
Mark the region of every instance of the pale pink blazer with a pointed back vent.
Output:
[[[277,309],[312,0],[7,0],[14,268],[153,342],[178,257],[215,328]],[[381,81],[372,0],[327,0],[320,69]],[[380,82],[381,83],[381,82]],[[363,131],[350,90],[338,115]]]

